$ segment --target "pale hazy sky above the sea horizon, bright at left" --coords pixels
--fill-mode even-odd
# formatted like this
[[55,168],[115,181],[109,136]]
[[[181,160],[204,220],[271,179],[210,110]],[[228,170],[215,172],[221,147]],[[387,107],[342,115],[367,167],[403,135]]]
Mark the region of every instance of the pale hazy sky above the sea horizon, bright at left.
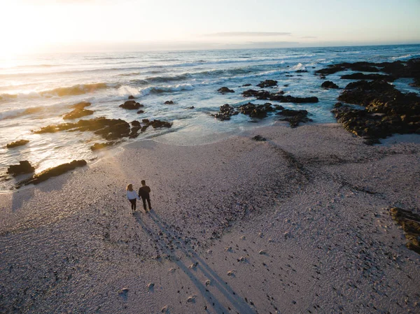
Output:
[[420,43],[420,0],[1,0],[0,54]]

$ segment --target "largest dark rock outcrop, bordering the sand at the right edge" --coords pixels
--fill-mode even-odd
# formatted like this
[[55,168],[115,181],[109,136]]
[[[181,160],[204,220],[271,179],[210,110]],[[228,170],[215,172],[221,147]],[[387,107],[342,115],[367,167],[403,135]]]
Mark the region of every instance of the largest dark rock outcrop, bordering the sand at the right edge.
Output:
[[420,97],[415,93],[403,94],[384,81],[362,80],[347,85],[338,99],[365,106],[336,106],[331,112],[344,129],[367,138],[367,144],[395,133],[420,134]]

